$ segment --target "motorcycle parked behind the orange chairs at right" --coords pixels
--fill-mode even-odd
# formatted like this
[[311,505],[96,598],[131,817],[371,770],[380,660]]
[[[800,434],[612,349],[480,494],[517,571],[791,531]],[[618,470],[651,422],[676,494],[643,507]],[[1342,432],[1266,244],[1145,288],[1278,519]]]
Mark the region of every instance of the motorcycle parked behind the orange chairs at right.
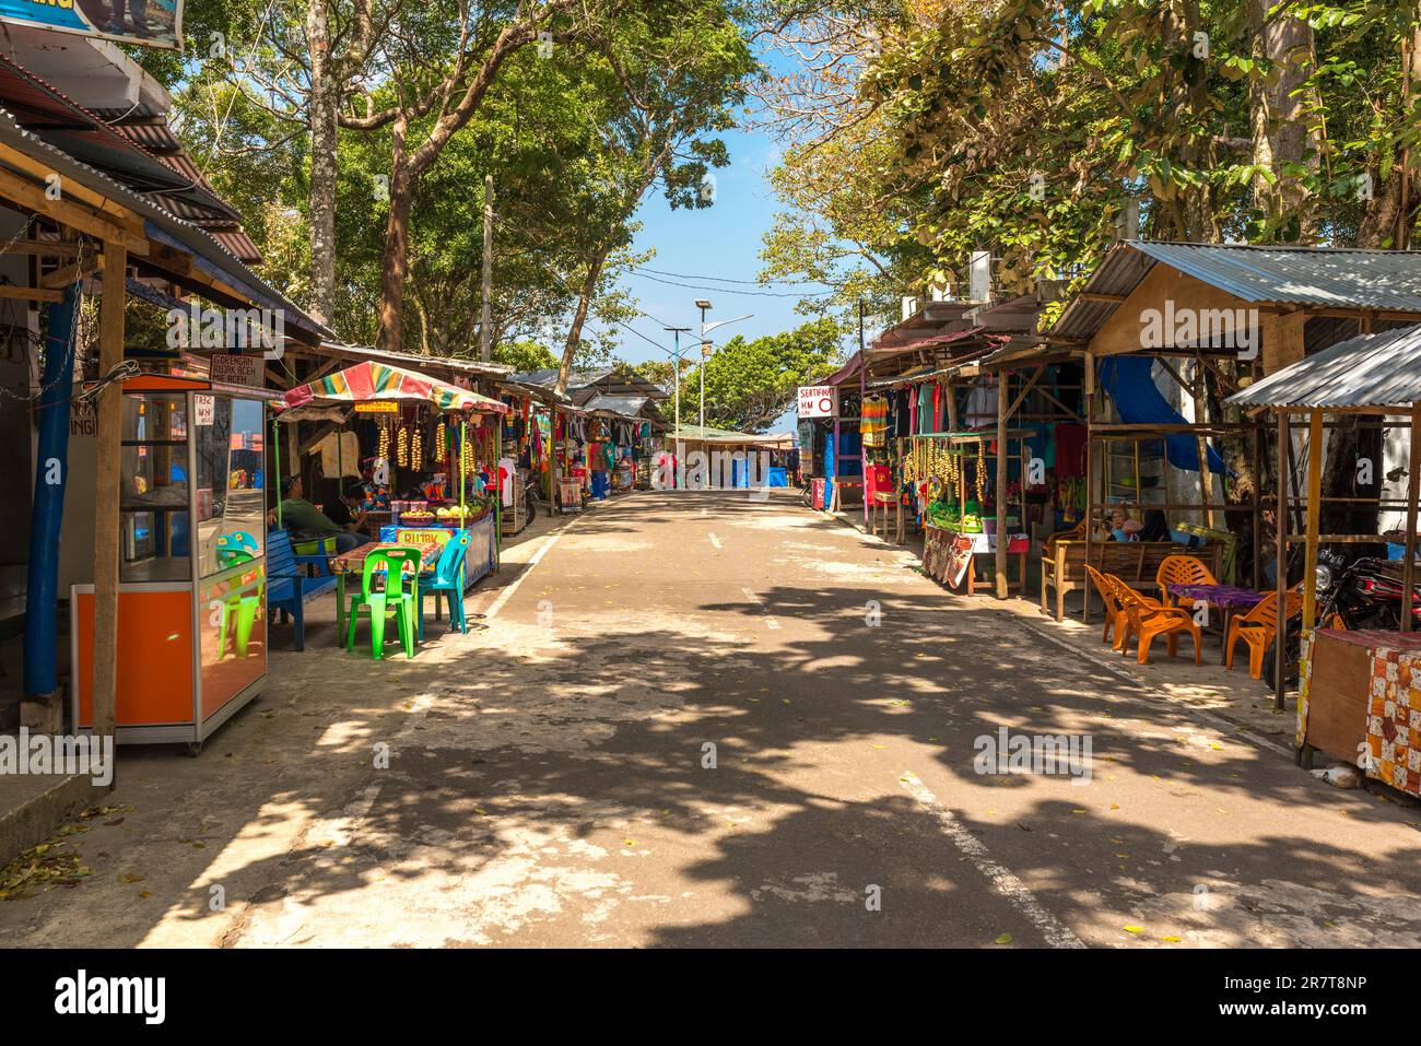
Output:
[[[1323,628],[1346,628],[1357,631],[1374,628],[1398,631],[1401,628],[1403,564],[1397,560],[1378,560],[1373,556],[1358,556],[1349,560],[1340,551],[1323,549],[1317,556],[1317,624]],[[1411,587],[1411,627],[1421,632],[1421,571]],[[1303,631],[1302,613],[1289,617],[1285,631],[1287,662],[1283,665],[1285,682],[1297,681],[1297,655]],[[1263,678],[1275,684],[1276,651],[1269,648],[1263,655]]]

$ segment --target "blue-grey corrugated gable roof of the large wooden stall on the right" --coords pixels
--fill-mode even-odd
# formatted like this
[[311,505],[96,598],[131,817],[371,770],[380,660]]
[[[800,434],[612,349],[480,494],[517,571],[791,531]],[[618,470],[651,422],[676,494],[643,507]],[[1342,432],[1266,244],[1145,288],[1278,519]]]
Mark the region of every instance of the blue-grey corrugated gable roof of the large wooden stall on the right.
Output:
[[[1421,317],[1421,252],[1131,240],[1113,247],[1081,294],[1127,297],[1167,264],[1250,304],[1390,310]],[[1120,307],[1076,297],[1053,334],[1090,338]]]

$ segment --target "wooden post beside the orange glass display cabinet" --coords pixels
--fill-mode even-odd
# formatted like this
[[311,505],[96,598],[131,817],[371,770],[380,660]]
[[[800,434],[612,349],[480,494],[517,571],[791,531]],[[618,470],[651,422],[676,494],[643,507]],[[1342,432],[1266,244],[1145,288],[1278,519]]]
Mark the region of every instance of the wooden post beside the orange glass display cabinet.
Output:
[[[124,304],[128,296],[128,247],[104,242],[104,277],[98,321],[99,379],[124,362]],[[94,483],[94,715],[95,738],[114,736],[118,691],[118,472],[124,425],[124,387],[98,394],[97,476]]]

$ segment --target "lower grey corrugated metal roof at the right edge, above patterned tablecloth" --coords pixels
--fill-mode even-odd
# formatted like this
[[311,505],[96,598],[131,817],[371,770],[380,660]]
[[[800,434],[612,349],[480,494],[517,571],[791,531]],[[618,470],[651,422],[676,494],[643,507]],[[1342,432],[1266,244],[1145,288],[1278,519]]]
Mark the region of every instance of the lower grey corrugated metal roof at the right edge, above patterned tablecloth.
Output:
[[1410,409],[1421,401],[1421,325],[1361,334],[1235,392],[1238,406]]

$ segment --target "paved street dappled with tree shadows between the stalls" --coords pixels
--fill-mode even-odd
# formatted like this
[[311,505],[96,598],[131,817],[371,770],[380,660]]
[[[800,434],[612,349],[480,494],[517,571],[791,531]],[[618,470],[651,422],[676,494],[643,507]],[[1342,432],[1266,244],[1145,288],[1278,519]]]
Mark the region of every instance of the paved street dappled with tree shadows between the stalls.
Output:
[[[117,823],[71,837],[94,874],[0,902],[0,937],[1421,942],[1421,810],[949,595],[793,492],[634,495],[513,559],[475,631],[432,624],[411,662],[279,638],[269,694],[199,759],[125,753]],[[976,773],[999,726],[1088,736],[1088,780]]]

